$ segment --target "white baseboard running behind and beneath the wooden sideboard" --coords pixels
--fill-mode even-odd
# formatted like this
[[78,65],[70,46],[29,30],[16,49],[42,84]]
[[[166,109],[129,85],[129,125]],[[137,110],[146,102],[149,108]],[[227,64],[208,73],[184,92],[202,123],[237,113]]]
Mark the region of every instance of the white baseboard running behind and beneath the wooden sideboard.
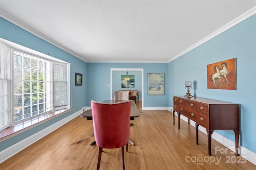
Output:
[[[173,108],[171,108],[173,110]],[[169,109],[169,111],[171,110]],[[178,116],[177,112],[174,113],[174,115]],[[180,119],[188,122],[188,118],[180,115]],[[193,127],[196,127],[195,122],[190,120],[190,125]],[[198,127],[198,130],[200,130],[202,133],[207,135],[206,129],[202,126]],[[232,150],[233,152],[235,152],[235,142],[231,141],[230,139],[227,139],[226,137],[213,132],[212,133],[212,139],[216,140],[218,143],[224,145],[225,147],[227,147],[228,149]],[[213,150],[214,152],[214,150]],[[242,156],[243,158],[245,158],[246,160],[248,160],[249,162],[251,162],[252,164],[256,165],[256,153],[242,147],[239,146],[238,147],[238,153],[240,154],[240,156]]]

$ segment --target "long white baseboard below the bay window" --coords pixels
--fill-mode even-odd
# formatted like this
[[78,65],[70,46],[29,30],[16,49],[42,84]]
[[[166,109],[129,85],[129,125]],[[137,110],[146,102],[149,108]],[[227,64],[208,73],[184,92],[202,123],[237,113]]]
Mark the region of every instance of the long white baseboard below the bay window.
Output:
[[26,139],[16,143],[15,145],[12,145],[11,147],[9,147],[5,150],[2,150],[0,152],[0,163],[4,162],[6,159],[10,158],[11,156],[20,152],[21,150],[25,149],[26,147],[32,145],[33,143],[35,143],[42,137],[48,135],[52,131],[58,129],[65,123],[68,123],[69,121],[71,121],[72,119],[74,119],[75,117],[80,115],[81,113],[82,113],[82,110],[77,111],[76,113],[62,119],[61,121],[58,121],[57,123],[54,123],[53,125],[43,129],[42,131],[35,133],[34,135],[31,135],[30,137],[27,137]]

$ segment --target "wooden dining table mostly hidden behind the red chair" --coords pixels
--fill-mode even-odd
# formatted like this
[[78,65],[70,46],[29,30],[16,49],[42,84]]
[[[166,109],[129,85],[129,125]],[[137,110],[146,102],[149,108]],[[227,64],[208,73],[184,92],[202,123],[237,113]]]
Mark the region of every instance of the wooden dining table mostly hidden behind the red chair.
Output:
[[[137,106],[134,102],[132,101],[132,107],[131,107],[131,115],[130,115],[130,120],[134,120],[135,117],[139,117],[140,114],[138,112]],[[124,102],[124,100],[104,100],[102,103],[119,103],[119,102]],[[86,120],[92,120],[92,109],[86,110],[81,114],[81,117],[85,117]],[[129,139],[128,141],[130,144],[135,146],[135,144]],[[92,142],[90,145],[95,145],[96,142]]]

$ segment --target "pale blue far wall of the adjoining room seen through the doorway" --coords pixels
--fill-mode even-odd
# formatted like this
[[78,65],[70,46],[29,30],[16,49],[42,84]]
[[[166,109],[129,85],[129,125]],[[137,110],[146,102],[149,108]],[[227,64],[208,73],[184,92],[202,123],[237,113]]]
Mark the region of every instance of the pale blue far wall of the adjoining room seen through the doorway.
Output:
[[[122,88],[121,85],[121,75],[126,75],[126,71],[113,71],[112,73],[112,94],[114,91],[118,90],[138,90],[139,98],[142,95],[142,83],[141,83],[141,71],[128,71],[129,75],[134,75],[134,88]],[[113,98],[113,95],[112,95]]]

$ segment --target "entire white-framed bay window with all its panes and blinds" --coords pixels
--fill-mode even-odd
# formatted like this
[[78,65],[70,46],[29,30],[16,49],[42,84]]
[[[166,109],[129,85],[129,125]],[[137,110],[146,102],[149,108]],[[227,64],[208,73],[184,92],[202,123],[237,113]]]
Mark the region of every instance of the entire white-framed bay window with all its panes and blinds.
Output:
[[17,122],[70,108],[69,64],[1,42],[0,130]]

